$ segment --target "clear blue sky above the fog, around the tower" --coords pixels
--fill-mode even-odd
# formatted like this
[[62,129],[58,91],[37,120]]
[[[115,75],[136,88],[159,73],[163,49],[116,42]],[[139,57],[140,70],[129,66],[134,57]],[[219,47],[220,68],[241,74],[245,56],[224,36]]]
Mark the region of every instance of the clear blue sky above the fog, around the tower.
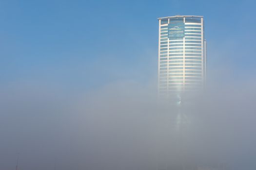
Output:
[[157,18],[174,15],[204,16],[208,73],[221,77],[217,69],[227,67],[229,76],[242,78],[256,70],[255,6],[253,0],[1,0],[0,82],[79,90],[154,82]]

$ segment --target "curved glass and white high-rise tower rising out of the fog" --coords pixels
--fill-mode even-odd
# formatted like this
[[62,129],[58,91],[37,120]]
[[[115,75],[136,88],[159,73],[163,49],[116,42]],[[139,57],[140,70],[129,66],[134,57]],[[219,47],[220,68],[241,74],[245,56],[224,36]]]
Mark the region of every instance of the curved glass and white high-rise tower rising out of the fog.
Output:
[[161,17],[158,42],[158,94],[172,96],[202,88],[206,41],[202,16]]

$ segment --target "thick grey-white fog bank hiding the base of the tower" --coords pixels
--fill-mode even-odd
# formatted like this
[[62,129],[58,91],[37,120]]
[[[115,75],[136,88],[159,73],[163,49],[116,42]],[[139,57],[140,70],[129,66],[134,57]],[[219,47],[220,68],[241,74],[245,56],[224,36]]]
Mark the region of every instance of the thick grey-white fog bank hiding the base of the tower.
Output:
[[78,95],[32,83],[5,87],[0,169],[13,170],[19,153],[19,170],[255,170],[256,83],[208,82],[179,108],[135,81]]

